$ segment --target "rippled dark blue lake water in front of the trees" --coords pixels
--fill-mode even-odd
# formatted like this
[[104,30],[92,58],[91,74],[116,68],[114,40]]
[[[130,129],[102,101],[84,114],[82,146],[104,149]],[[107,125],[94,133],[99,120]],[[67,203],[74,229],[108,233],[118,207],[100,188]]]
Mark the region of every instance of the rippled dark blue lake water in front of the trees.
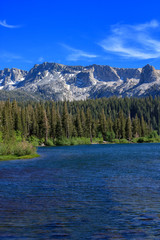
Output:
[[0,239],[160,239],[160,144],[0,162]]

